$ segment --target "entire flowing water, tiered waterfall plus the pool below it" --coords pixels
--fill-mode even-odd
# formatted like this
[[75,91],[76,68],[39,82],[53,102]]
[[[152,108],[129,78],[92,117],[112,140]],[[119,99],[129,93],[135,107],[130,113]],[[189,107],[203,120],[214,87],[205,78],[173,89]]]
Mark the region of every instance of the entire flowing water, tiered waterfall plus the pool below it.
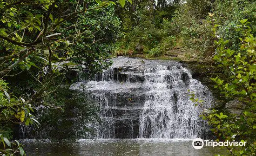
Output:
[[101,123],[90,139],[77,143],[27,142],[28,156],[214,156],[220,147],[195,150],[195,137],[208,138],[202,109],[189,92],[210,107],[209,89],[193,79],[181,63],[142,58],[113,58],[113,65],[91,80],[79,78],[70,89],[92,97]]

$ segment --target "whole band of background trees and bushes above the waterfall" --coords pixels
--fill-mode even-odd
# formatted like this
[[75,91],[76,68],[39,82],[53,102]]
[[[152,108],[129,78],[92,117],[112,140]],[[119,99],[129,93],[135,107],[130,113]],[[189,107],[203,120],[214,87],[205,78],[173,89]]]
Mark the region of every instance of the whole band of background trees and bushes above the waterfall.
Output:
[[[255,33],[256,2],[251,0],[166,0],[151,1],[142,0],[141,3],[134,1],[117,14],[121,18],[124,38],[116,44],[114,55],[137,54],[135,46],[143,45],[143,52],[160,46],[168,36],[175,36],[175,42],[181,43],[176,47],[186,51],[185,56],[211,58],[215,53],[216,45],[213,40],[223,38],[229,40],[231,49],[239,50],[236,31],[238,21],[249,19],[252,23],[252,34]],[[215,16],[211,21],[210,16]],[[212,36],[211,29],[219,25],[217,36]],[[175,43],[169,44],[170,48],[176,48]],[[172,50],[172,49],[170,49]],[[162,48],[162,54],[167,49]],[[181,51],[181,52],[182,52]]]

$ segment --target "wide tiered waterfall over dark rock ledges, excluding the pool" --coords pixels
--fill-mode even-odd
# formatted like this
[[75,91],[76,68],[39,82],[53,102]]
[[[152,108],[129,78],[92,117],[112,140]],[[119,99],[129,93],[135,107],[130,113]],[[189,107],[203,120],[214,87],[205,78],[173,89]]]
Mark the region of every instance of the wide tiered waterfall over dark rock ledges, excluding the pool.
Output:
[[71,89],[84,91],[100,104],[97,138],[195,138],[202,136],[202,110],[189,92],[209,107],[208,88],[175,61],[113,58],[113,65],[94,80]]

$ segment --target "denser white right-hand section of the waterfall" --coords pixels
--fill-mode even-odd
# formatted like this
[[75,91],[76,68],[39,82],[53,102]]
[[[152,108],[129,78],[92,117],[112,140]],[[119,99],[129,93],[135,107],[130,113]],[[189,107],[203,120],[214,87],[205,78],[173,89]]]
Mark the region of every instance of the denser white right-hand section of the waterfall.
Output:
[[[156,65],[145,73],[150,88],[140,117],[140,137],[195,138],[202,132],[201,110],[189,100],[188,89],[207,100],[209,91],[182,66]],[[209,96],[205,96],[209,95]],[[207,98],[205,98],[207,97]]]

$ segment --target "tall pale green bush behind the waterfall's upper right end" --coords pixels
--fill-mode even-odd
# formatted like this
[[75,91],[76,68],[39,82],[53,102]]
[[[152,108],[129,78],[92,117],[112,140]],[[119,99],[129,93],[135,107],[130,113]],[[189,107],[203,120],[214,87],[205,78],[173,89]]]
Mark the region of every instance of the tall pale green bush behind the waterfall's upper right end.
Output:
[[172,19],[174,33],[182,40],[182,47],[189,52],[210,55],[214,52],[213,37],[209,31],[208,13],[213,4],[211,0],[188,0],[181,5]]

